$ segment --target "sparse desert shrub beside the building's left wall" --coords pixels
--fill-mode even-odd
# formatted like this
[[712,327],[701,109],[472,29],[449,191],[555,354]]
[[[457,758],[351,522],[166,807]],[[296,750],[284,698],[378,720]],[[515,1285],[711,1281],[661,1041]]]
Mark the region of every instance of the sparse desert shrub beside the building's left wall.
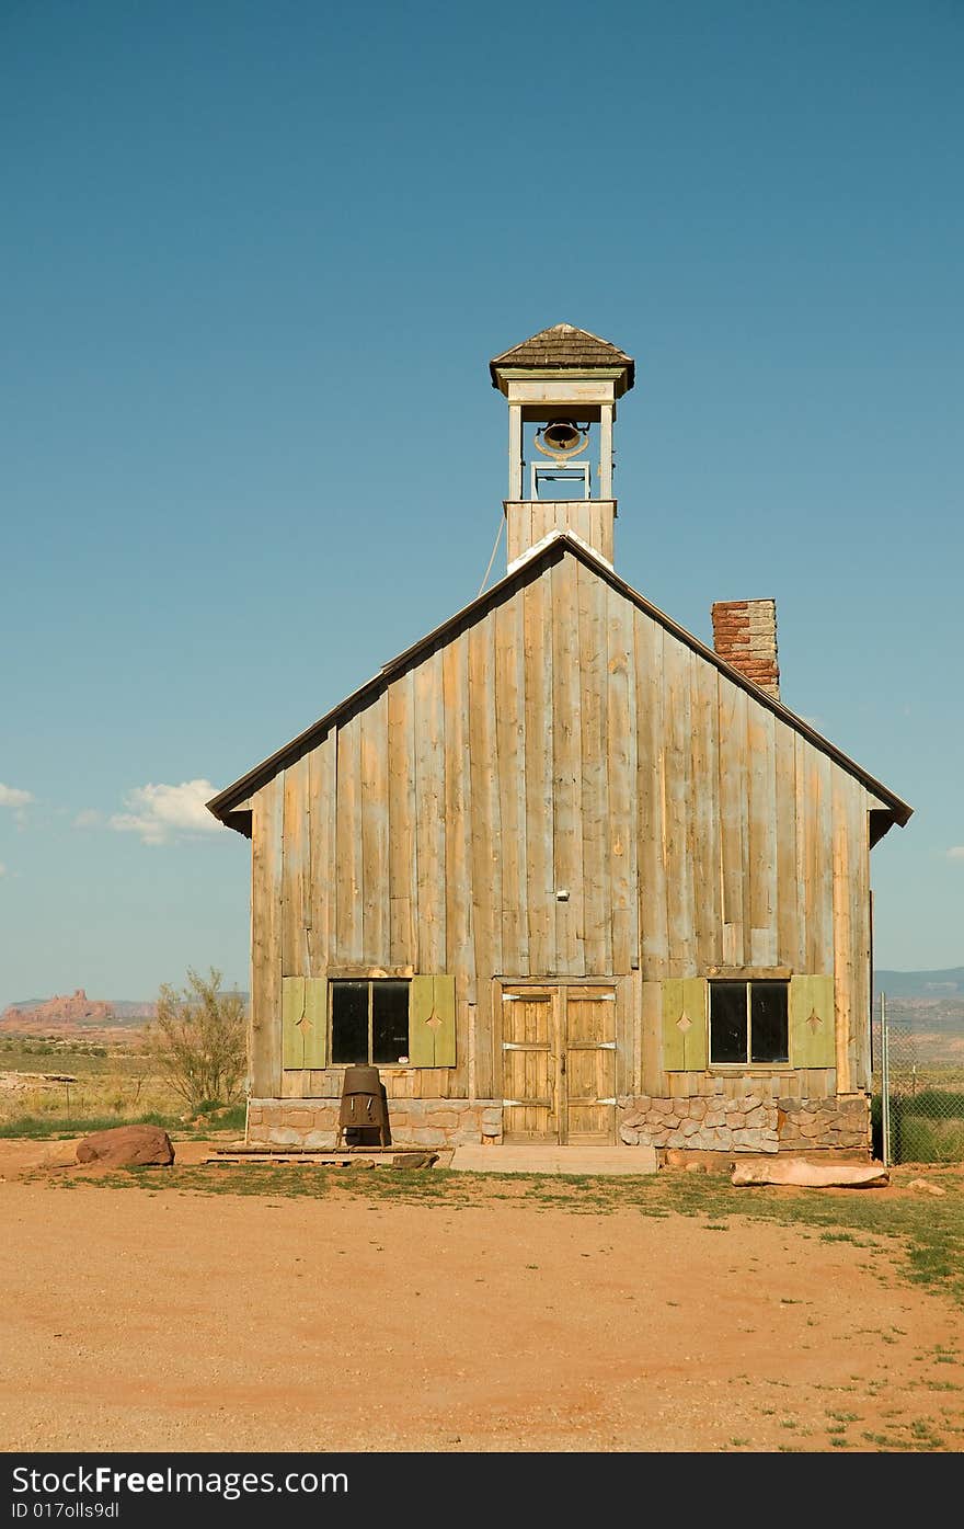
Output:
[[188,969],[183,989],[162,985],[147,1050],[192,1113],[232,1104],[247,1069],[247,1017],[238,992],[222,992],[222,974]]

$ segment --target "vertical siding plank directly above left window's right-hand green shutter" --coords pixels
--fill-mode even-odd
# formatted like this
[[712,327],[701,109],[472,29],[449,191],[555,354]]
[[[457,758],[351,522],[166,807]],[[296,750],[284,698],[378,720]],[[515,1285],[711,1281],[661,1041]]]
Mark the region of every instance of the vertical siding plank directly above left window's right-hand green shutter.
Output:
[[442,650],[416,670],[419,971],[445,969],[445,690]]

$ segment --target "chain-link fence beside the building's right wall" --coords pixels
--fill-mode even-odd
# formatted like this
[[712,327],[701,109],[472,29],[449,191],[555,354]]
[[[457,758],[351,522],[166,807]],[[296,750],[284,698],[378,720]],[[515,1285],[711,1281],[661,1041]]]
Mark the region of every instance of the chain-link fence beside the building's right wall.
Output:
[[874,1005],[874,1154],[964,1162],[964,1037],[926,1031],[886,994]]

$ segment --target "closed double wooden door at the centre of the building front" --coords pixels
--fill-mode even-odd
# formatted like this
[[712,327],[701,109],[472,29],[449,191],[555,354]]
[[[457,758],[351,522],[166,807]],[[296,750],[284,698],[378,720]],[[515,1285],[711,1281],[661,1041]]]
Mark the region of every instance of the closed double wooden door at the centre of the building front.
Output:
[[616,1141],[616,989],[503,988],[503,1139]]

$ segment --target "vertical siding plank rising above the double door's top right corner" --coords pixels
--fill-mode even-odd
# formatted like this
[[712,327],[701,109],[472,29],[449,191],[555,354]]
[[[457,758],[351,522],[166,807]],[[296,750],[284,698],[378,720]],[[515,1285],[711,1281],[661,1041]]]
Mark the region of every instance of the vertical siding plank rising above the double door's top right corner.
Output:
[[[632,648],[632,605],[607,589],[607,760],[613,971],[639,968],[639,739]],[[639,1057],[634,1078],[639,1078]]]

